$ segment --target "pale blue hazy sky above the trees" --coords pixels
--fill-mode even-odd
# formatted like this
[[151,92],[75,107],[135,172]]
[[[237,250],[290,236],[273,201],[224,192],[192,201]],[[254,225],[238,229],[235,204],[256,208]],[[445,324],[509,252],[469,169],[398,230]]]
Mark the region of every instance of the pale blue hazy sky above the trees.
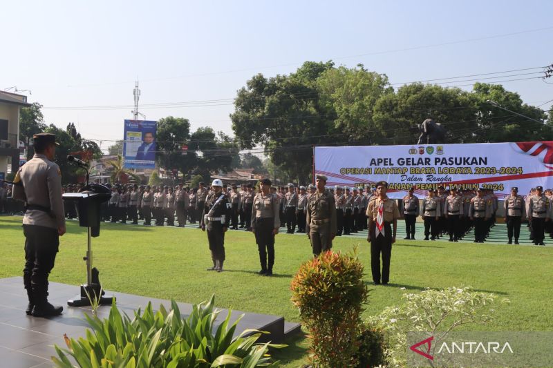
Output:
[[[553,63],[548,0],[34,0],[5,1],[1,14],[0,89],[32,90],[29,101],[44,105],[46,123],[75,122],[84,137],[104,140],[103,148],[122,139],[131,107],[60,107],[131,106],[137,77],[140,103],[159,104],[232,99],[255,73],[288,74],[307,60],[362,63],[391,83]],[[516,32],[525,33],[400,50]],[[553,85],[541,79],[504,86],[529,104],[553,99]],[[214,105],[140,111],[232,133],[232,101]]]

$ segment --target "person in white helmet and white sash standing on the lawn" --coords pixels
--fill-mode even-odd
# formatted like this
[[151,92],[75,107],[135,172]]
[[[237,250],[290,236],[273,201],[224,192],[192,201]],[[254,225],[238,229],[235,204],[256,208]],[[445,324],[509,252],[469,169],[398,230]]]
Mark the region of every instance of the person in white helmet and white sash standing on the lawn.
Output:
[[212,183],[212,191],[207,195],[200,228],[207,229],[207,241],[212,253],[213,267],[208,271],[223,272],[225,262],[225,233],[229,229],[231,206],[227,196],[223,193],[223,182],[216,179]]

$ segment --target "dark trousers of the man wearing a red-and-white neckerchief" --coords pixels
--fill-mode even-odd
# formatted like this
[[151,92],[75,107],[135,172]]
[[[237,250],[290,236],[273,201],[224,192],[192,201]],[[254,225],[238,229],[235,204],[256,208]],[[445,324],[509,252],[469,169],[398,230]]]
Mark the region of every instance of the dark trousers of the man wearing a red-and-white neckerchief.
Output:
[[[390,280],[390,259],[392,257],[392,226],[384,222],[384,234],[375,237],[376,222],[371,229],[371,270],[373,281],[379,284]],[[382,253],[382,278],[380,275],[380,254]]]

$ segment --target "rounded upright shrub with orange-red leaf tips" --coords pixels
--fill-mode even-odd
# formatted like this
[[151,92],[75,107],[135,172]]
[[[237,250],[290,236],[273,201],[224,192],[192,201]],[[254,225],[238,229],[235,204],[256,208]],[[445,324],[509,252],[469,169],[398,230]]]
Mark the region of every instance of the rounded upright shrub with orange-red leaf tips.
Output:
[[315,367],[355,367],[355,339],[367,299],[363,265],[353,255],[327,251],[301,265],[292,280],[292,302],[310,331]]

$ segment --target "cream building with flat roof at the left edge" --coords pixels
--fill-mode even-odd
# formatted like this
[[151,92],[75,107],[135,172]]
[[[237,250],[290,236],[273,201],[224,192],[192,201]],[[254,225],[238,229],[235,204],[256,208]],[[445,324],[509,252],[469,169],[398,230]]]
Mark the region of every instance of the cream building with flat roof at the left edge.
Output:
[[30,106],[27,96],[0,90],[0,179],[19,168],[19,109]]

